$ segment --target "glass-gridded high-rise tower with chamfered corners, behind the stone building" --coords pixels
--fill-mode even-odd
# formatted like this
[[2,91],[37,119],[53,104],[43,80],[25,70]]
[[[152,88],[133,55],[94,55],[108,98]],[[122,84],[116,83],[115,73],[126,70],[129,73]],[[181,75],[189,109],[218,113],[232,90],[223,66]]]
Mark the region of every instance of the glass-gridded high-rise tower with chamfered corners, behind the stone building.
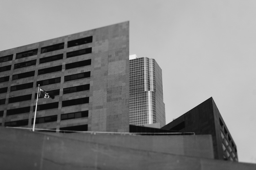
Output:
[[165,125],[162,69],[154,59],[130,56],[130,124]]

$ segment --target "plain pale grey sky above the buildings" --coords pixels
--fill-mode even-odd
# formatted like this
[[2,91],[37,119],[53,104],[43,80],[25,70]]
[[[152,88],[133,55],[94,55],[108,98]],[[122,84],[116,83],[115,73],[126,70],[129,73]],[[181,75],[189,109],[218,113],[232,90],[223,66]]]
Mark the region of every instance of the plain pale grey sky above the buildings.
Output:
[[255,0],[0,0],[0,51],[130,21],[130,54],[163,73],[166,123],[213,97],[256,163]]

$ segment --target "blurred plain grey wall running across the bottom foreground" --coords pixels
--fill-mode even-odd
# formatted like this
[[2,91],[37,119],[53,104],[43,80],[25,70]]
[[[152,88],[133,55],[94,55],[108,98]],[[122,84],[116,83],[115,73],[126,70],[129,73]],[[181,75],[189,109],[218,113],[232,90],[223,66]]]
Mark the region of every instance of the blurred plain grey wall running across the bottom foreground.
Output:
[[[181,136],[179,136],[181,137]],[[117,136],[94,134],[56,134],[0,128],[1,169],[190,169],[190,170],[252,170],[255,164],[186,156],[183,147],[193,147],[185,138],[211,141],[209,136],[181,138],[161,136]],[[137,142],[135,141],[137,138]],[[159,140],[158,140],[159,139]],[[132,143],[134,142],[134,143]],[[143,144],[141,144],[142,142]],[[130,144],[129,144],[130,143]],[[186,144],[185,144],[186,143]],[[168,149],[177,149],[168,153]],[[165,144],[165,145],[164,145]],[[195,144],[195,143],[194,143]],[[201,143],[201,147],[205,147]],[[194,149],[199,149],[194,145]],[[186,150],[186,149],[184,149]],[[212,148],[208,149],[209,151]],[[191,152],[192,150],[190,150]],[[179,153],[180,152],[180,153]],[[192,151],[193,152],[193,151]],[[213,153],[211,153],[213,154]]]

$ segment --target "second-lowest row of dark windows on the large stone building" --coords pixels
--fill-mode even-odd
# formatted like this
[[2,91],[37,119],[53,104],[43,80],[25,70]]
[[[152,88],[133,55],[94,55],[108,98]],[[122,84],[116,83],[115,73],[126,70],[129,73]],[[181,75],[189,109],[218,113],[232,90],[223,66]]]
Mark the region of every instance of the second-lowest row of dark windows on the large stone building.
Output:
[[[84,118],[84,117],[88,117],[88,110],[81,111],[81,112],[61,114],[61,120],[77,119],[77,118]],[[57,115],[36,118],[35,124],[54,122],[54,121],[57,121],[57,118],[58,118]],[[33,123],[34,123],[34,118],[31,121],[31,124]],[[17,127],[17,126],[26,126],[26,125],[28,125],[28,119],[4,123],[4,126],[8,126],[8,127]],[[60,130],[63,130],[63,129],[60,129]]]

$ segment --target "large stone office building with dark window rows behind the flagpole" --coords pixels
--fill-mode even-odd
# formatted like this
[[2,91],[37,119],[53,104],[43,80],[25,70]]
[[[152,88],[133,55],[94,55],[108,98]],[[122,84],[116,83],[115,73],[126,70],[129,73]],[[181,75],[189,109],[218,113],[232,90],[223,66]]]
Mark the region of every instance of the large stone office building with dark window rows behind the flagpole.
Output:
[[129,132],[129,22],[0,52],[0,124]]

